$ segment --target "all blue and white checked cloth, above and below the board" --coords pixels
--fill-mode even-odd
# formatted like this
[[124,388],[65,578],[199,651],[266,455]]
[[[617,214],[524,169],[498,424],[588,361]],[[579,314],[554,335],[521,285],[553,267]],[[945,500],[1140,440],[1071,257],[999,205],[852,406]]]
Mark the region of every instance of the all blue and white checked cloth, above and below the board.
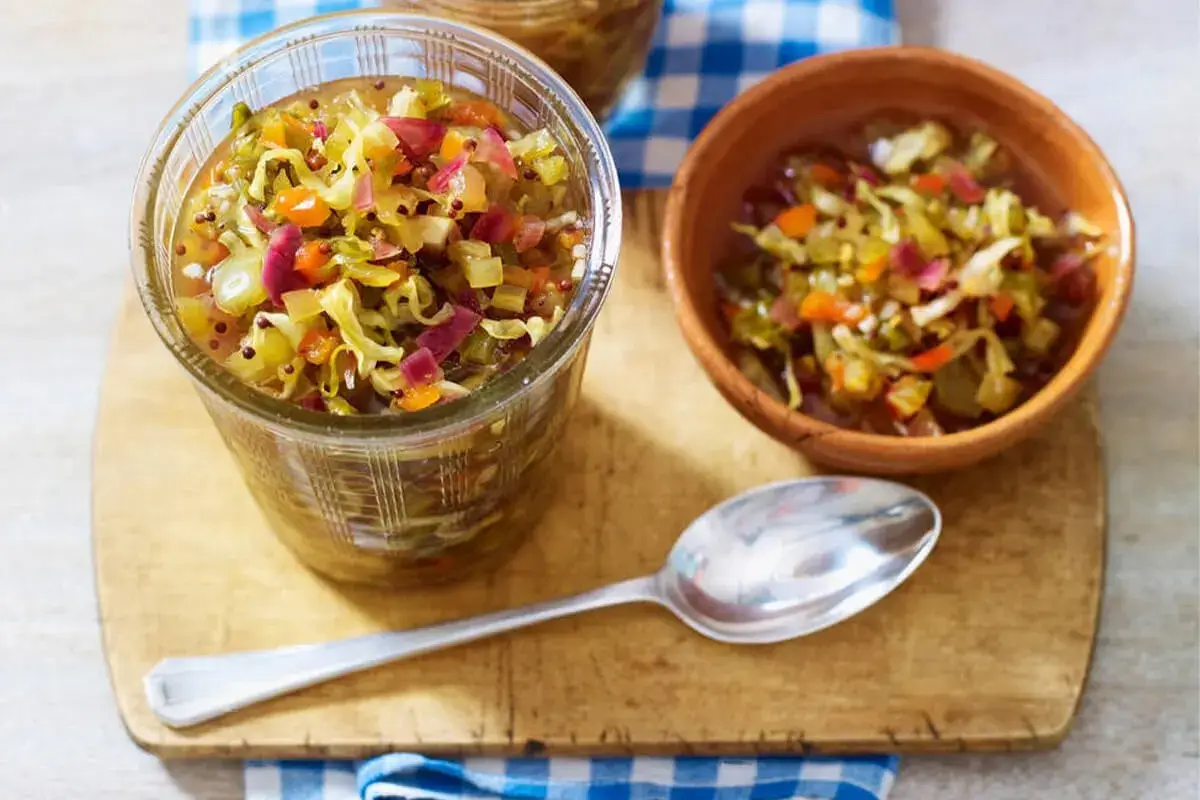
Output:
[[[194,73],[241,42],[372,0],[192,0]],[[721,106],[785,64],[896,41],[890,0],[666,0],[646,65],[607,121],[625,188],[667,186]],[[246,800],[882,800],[890,756],[250,762]]]

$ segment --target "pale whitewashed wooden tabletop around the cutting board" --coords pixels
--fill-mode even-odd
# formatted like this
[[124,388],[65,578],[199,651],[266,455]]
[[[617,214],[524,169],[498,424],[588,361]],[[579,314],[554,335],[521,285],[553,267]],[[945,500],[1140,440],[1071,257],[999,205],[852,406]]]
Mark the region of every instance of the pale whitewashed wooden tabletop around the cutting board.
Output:
[[[910,42],[1009,70],[1084,125],[1138,221],[1138,289],[1100,374],[1110,560],[1091,685],[1056,752],[907,758],[894,796],[1133,799],[1198,787],[1194,0],[900,0]],[[0,0],[0,796],[241,796],[232,763],[161,764],[118,720],[89,549],[97,383],[133,174],[186,85],[164,0]],[[185,491],[186,487],[181,487]],[[1003,664],[996,664],[1003,669]]]

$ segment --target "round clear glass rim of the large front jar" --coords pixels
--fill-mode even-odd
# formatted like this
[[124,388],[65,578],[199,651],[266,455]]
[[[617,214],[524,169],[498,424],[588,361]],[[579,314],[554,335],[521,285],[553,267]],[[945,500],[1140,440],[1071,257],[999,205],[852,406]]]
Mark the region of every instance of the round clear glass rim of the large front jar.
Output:
[[[340,416],[312,411],[271,397],[235,378],[184,332],[174,313],[174,293],[162,287],[155,269],[154,209],[168,157],[184,138],[188,124],[208,101],[269,59],[301,42],[329,41],[370,31],[401,36],[434,36],[457,46],[482,50],[488,61],[502,61],[532,84],[541,101],[560,118],[586,156],[586,191],[592,206],[592,246],[587,271],[566,314],[529,354],[510,371],[470,395],[419,414]],[[158,337],[203,389],[259,422],[292,434],[317,439],[396,437],[422,440],[452,435],[494,420],[498,411],[550,380],[583,344],[612,287],[622,236],[620,191],[617,168],[595,118],[576,92],[541,59],[487,30],[460,22],[401,11],[354,10],[310,17],[275,29],[242,44],[217,61],[184,92],[167,113],[143,157],[134,182],[130,219],[130,252],[142,305]],[[169,306],[169,308],[167,307]]]

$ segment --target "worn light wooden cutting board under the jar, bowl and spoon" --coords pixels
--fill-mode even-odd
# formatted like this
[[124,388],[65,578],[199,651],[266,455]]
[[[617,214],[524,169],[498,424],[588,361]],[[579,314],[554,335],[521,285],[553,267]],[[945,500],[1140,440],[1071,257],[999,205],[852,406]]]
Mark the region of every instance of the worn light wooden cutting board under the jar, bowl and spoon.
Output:
[[383,667],[175,732],[142,678],[167,656],[426,625],[655,570],[708,506],[809,474],[719,397],[678,335],[659,197],[626,200],[617,285],[563,443],[557,501],[488,579],[342,588],[275,541],[184,371],[130,295],[97,426],[96,584],[130,735],[163,757],[955,751],[1048,747],[1087,675],[1104,566],[1091,391],[1050,429],[917,485],[946,529],[862,615],[769,646],[629,607]]

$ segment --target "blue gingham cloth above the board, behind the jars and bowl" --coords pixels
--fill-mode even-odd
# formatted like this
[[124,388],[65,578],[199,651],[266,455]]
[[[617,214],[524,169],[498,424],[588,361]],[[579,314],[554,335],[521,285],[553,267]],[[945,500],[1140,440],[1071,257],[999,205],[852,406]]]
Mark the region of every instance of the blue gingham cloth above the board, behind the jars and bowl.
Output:
[[[198,74],[250,37],[376,0],[192,0]],[[713,115],[768,73],[817,53],[898,41],[892,0],[666,0],[643,74],[605,125],[624,188],[670,186]]]

